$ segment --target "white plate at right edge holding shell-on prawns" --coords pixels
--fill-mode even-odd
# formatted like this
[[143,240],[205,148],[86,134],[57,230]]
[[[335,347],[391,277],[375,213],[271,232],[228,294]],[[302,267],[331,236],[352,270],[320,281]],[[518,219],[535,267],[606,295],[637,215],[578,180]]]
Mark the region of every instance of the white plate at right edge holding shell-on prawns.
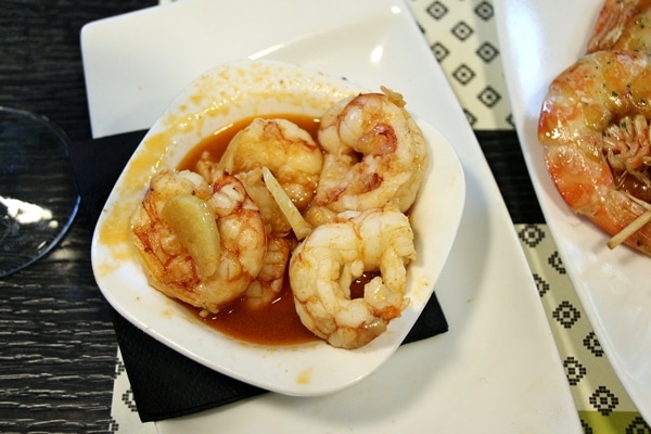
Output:
[[547,174],[536,137],[547,88],[585,52],[601,4],[497,0],[496,12],[513,118],[547,224],[599,343],[651,420],[651,259],[627,247],[610,251],[608,235],[570,210]]

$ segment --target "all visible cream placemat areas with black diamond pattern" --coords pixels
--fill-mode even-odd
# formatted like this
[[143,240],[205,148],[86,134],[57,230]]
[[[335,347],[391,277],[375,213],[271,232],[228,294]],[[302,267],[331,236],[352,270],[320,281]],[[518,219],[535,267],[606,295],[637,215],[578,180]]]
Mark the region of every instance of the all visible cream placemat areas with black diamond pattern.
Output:
[[[410,0],[408,5],[472,128],[512,130],[492,1]],[[515,221],[585,433],[651,434],[603,354],[547,226]],[[138,418],[119,353],[115,374],[111,430],[155,433]]]

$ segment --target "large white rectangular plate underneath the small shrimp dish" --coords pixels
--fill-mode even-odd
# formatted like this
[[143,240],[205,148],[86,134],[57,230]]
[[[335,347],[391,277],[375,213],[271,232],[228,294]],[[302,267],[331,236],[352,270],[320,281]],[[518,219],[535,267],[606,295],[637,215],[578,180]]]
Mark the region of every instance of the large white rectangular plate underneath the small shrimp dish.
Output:
[[269,1],[183,0],[85,27],[93,133],[151,126],[192,78],[245,56],[303,64],[371,89],[393,86],[451,143],[465,176],[461,225],[435,286],[450,330],[400,347],[373,375],[336,394],[266,394],[159,422],[158,430],[583,432],[497,184],[405,2],[282,4],[291,13],[279,16]]

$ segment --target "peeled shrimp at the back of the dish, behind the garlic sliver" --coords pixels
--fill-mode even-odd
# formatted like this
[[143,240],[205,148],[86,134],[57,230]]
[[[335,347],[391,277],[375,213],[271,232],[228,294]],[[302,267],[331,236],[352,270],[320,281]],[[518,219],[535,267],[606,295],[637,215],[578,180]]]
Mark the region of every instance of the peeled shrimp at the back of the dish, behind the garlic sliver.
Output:
[[309,132],[286,119],[256,118],[233,137],[217,168],[255,190],[253,199],[264,204],[260,209],[271,219],[275,232],[283,232],[289,225],[278,206],[273,206],[261,168],[273,174],[294,205],[303,210],[315,194],[322,165],[323,154]]

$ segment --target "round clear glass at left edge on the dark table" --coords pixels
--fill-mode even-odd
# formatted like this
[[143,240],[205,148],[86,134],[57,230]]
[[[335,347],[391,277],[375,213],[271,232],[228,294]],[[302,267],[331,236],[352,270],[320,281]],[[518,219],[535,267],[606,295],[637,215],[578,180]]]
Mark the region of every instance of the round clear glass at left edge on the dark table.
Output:
[[0,106],[0,278],[50,252],[78,207],[67,136],[44,116]]

